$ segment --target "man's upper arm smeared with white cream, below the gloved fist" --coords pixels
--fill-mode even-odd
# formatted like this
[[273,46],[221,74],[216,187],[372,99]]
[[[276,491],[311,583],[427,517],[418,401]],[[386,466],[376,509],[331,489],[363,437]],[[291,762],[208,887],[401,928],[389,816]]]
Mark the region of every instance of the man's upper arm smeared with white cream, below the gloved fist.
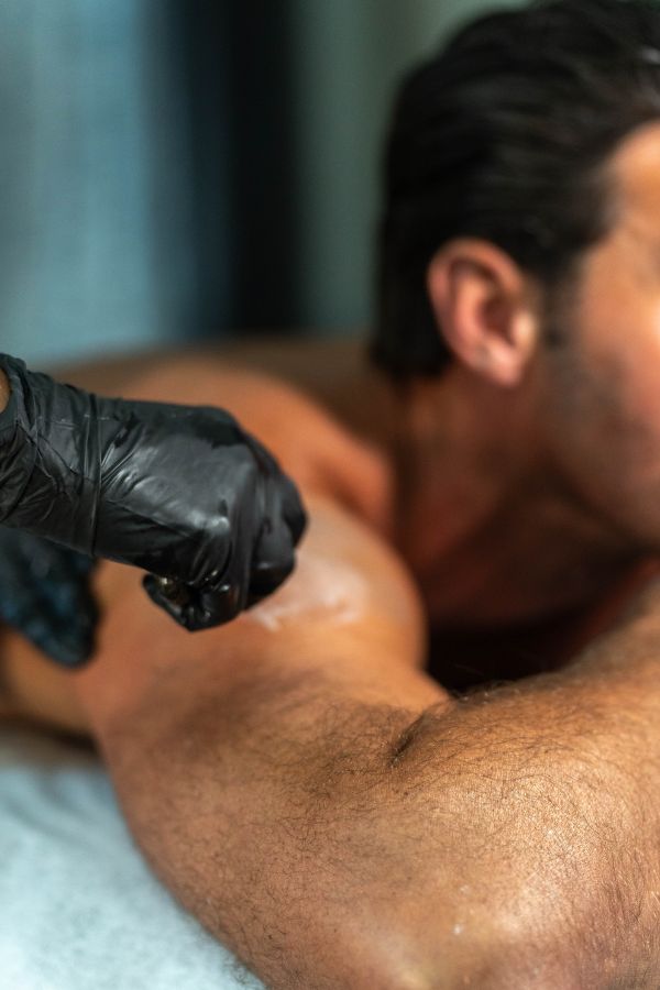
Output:
[[418,711],[444,697],[420,672],[424,615],[405,566],[345,509],[316,494],[307,502],[310,526],[294,575],[227,626],[196,634],[180,629],[148,601],[138,571],[105,563],[95,578],[102,612],[98,650],[86,670],[62,671],[18,634],[3,630],[14,708],[84,730],[114,707],[142,698],[154,679],[179,666],[188,671],[208,666],[230,690],[245,671],[255,679],[305,675],[329,664],[355,698],[399,697],[402,704],[408,698]]

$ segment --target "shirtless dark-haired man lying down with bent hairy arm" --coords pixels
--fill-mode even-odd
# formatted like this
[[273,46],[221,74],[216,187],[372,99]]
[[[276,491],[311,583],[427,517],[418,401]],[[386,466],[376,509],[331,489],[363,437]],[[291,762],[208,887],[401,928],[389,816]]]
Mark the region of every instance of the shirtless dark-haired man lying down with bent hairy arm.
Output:
[[[650,990],[660,12],[490,18],[405,94],[375,348],[411,359],[405,381],[352,345],[76,378],[222,395],[306,497],[296,573],[189,636],[103,564],[94,663],[66,674],[6,634],[9,704],[91,733],[154,869],[268,987]],[[461,229],[411,195],[433,170]]]

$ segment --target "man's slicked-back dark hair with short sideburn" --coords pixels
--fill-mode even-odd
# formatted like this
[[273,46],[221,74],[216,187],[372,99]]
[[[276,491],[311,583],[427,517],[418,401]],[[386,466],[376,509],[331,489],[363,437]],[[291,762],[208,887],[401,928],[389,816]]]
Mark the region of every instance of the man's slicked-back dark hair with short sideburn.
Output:
[[660,118],[660,8],[549,0],[463,29],[405,81],[385,157],[375,362],[450,360],[426,290],[436,251],[483,238],[547,287],[612,223],[607,156]]

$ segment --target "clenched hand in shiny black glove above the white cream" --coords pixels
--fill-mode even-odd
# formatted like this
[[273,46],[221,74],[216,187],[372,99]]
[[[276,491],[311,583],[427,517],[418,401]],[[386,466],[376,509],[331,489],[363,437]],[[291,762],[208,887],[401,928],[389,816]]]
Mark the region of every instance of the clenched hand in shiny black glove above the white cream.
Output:
[[1,524],[169,579],[145,587],[187,629],[228,622],[292,572],[297,491],[228,413],[102,398],[7,355],[0,367]]

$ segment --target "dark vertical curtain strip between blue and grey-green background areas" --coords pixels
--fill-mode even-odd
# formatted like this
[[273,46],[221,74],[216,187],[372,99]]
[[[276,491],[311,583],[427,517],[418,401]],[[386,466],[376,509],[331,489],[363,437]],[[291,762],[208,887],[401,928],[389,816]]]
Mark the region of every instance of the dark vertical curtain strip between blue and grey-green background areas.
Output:
[[296,321],[287,4],[180,0],[200,337]]

